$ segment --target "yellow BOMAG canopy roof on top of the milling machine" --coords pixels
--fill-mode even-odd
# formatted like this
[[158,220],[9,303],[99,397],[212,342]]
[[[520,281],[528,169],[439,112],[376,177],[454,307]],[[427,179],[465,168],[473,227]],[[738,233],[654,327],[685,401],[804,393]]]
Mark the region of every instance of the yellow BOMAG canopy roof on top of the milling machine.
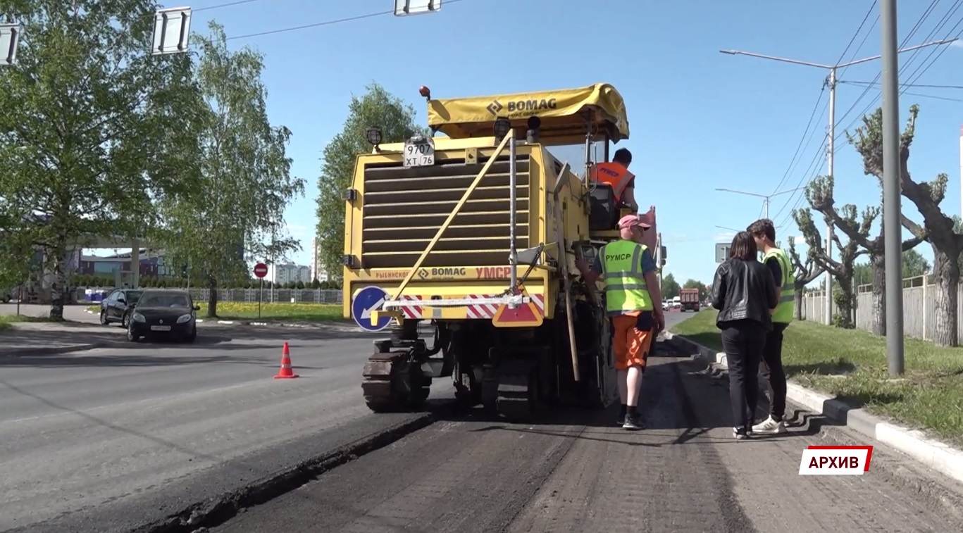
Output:
[[629,118],[622,95],[609,84],[581,89],[521,92],[429,100],[428,124],[453,139],[491,137],[495,119],[526,128],[530,116],[541,119],[541,141],[585,141],[590,123],[593,140],[606,134],[612,142],[629,139]]

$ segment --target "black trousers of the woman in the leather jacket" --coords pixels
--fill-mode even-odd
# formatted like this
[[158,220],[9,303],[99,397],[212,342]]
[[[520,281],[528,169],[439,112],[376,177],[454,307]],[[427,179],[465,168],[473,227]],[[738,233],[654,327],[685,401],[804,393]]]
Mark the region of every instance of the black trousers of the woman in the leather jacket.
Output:
[[736,427],[751,429],[759,405],[759,363],[766,347],[766,327],[750,320],[720,325],[729,368],[732,418]]

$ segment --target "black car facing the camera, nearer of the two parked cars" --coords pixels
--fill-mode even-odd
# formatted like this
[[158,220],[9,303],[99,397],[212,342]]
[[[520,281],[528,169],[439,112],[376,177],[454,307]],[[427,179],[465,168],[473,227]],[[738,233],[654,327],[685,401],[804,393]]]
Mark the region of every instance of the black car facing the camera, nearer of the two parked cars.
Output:
[[197,339],[197,316],[187,291],[147,289],[141,294],[127,321],[127,340],[136,343],[142,337],[170,337],[187,343]]

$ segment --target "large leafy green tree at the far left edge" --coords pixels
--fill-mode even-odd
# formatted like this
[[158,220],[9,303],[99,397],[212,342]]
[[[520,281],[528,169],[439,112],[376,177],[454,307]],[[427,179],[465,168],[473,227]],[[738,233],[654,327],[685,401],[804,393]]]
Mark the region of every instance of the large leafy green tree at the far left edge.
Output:
[[147,53],[157,8],[0,1],[24,26],[17,64],[0,71],[0,197],[8,214],[34,215],[6,229],[44,253],[51,318],[64,317],[72,249],[141,233],[153,200],[192,188],[191,58]]

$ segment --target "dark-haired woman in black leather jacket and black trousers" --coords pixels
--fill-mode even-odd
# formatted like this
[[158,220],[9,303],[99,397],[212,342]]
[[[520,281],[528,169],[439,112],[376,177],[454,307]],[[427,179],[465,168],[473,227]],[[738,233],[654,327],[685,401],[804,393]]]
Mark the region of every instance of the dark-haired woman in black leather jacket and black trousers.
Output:
[[745,439],[752,431],[759,402],[759,362],[772,328],[772,310],[779,303],[772,274],[757,260],[756,241],[741,231],[732,240],[729,259],[713,280],[716,327],[729,368],[729,398],[735,420],[733,435]]

